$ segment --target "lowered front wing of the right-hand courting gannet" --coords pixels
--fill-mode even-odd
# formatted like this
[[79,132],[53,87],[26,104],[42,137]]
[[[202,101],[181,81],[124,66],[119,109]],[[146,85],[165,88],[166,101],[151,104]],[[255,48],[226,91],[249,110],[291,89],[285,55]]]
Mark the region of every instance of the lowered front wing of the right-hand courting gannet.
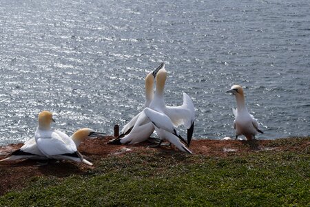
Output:
[[183,141],[184,139],[183,137],[178,135],[176,128],[172,124],[172,120],[167,115],[162,112],[152,110],[150,108],[145,108],[144,112],[145,115],[147,115],[147,117],[149,118],[149,120],[151,120],[154,124],[156,132],[161,138],[161,142],[164,140],[169,141],[171,144],[174,144],[174,146],[176,146],[176,148],[178,148],[179,150],[183,152],[188,152],[189,154],[193,154],[191,150],[189,150],[182,142],[180,142],[180,139]]

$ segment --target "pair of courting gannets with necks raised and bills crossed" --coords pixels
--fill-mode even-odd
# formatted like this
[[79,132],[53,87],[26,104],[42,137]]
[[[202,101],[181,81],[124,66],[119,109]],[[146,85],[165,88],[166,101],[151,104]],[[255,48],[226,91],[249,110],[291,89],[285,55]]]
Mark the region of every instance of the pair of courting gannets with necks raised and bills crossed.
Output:
[[[162,141],[169,141],[183,152],[192,152],[187,148],[194,130],[194,104],[184,92],[181,106],[166,106],[164,99],[167,71],[165,63],[161,63],[156,70],[145,77],[145,107],[123,128],[122,135],[109,144],[135,144],[145,141],[156,130],[161,145]],[[154,92],[154,81],[156,90]],[[176,128],[184,125],[187,128],[187,140],[181,137]],[[187,145],[187,146],[185,146]]]

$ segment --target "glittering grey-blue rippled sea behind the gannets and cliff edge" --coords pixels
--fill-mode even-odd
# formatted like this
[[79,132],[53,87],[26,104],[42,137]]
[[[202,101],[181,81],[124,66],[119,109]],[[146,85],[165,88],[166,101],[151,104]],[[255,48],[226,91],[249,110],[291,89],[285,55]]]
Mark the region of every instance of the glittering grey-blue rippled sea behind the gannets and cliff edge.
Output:
[[298,1],[3,1],[0,145],[33,137],[51,110],[68,134],[112,134],[165,61],[165,99],[196,106],[194,137],[233,136],[234,83],[265,134],[309,135],[310,13]]

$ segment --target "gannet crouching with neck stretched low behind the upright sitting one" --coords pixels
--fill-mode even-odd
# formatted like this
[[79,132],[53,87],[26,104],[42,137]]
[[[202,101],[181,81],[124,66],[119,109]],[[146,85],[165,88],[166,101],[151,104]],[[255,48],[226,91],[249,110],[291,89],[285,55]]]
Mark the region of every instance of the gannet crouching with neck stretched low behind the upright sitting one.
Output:
[[[57,132],[63,133],[58,130]],[[86,138],[98,137],[99,135],[103,135],[103,133],[95,132],[90,128],[82,128],[74,132],[74,134],[70,138],[74,141],[74,144],[77,148]],[[43,155],[43,153],[39,150],[36,140],[34,138],[25,141],[25,143],[23,144],[23,146],[21,146],[21,148],[19,148],[19,150],[11,152],[8,156],[10,157],[1,159],[0,161],[13,161],[17,159],[48,159],[48,157]]]

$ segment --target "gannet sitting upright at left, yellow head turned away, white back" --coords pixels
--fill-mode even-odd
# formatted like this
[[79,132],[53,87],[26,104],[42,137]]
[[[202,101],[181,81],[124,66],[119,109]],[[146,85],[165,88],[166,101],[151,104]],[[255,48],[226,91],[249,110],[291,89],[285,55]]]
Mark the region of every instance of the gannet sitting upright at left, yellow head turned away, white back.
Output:
[[92,166],[90,161],[83,158],[83,155],[77,150],[74,141],[68,135],[50,128],[52,121],[54,119],[51,112],[40,112],[39,126],[35,132],[34,139],[43,155],[50,159],[70,159]]

